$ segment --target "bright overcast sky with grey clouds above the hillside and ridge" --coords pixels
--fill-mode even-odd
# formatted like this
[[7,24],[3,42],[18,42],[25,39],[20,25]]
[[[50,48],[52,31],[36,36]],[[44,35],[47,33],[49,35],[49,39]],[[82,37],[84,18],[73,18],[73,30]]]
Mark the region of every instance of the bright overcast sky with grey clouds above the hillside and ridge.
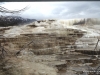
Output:
[[33,19],[100,18],[100,1],[6,2],[2,4],[9,10],[22,9],[27,5],[29,8],[25,12],[16,15]]

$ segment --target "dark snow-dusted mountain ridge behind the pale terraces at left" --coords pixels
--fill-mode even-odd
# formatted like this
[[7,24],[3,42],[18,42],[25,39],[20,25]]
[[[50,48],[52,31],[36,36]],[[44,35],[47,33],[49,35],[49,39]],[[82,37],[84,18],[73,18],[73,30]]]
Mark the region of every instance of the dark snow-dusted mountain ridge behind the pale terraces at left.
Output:
[[22,18],[19,16],[0,16],[0,27],[23,25],[36,21],[36,19]]

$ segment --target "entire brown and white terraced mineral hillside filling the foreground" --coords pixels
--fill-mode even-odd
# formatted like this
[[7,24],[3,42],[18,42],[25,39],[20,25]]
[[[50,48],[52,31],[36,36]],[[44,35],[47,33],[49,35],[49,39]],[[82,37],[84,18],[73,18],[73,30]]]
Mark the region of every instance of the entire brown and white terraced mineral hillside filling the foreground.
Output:
[[0,27],[0,75],[100,75],[99,25],[86,18]]

